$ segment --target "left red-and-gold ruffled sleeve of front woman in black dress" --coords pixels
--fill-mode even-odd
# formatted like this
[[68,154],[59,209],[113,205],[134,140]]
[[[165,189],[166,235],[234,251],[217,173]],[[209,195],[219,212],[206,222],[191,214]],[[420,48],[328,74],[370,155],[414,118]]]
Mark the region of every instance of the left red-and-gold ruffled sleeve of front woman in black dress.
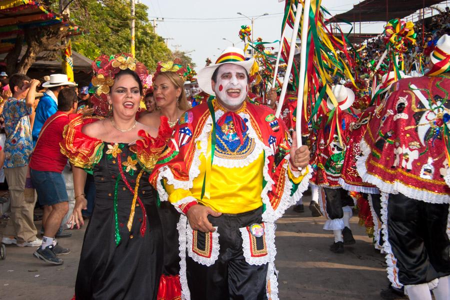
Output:
[[103,141],[84,134],[84,125],[102,119],[102,117],[83,117],[80,114],[69,115],[70,122],[62,132],[63,140],[59,143],[61,153],[78,167],[92,168],[103,153]]

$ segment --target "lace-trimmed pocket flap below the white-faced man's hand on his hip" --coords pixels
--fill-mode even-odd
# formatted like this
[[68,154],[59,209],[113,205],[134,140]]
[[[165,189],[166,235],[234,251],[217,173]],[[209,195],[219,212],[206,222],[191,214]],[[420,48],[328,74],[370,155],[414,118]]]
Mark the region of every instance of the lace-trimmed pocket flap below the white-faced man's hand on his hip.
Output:
[[190,225],[187,225],[187,253],[194,261],[211,265],[218,257],[219,243],[217,227],[214,227],[214,232],[201,232],[193,230]]

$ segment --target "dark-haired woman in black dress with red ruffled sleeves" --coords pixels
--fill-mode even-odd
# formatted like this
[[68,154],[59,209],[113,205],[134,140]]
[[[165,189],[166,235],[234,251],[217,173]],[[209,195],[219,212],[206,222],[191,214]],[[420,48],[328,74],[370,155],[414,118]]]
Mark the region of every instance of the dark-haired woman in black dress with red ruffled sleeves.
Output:
[[[93,173],[96,188],[76,276],[75,298],[156,299],[162,267],[156,191],[148,183],[151,169],[141,166],[135,146],[129,144],[139,139],[139,130],[156,136],[157,128],[135,120],[142,83],[131,57],[102,56],[93,65],[97,73],[92,79],[97,86],[97,112],[104,112],[101,101],[107,101],[112,106],[112,116],[75,117],[61,143],[61,151],[75,166],[76,204],[72,220],[77,227],[83,224],[81,210],[87,204],[83,193],[85,170]],[[142,71],[142,65],[137,64],[137,68]]]

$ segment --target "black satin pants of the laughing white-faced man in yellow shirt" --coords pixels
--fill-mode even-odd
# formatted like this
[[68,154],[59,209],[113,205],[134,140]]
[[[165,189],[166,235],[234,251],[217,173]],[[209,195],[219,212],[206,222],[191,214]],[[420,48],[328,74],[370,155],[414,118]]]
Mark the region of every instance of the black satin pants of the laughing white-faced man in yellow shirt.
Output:
[[[250,265],[242,251],[240,227],[261,222],[262,207],[239,214],[208,216],[217,226],[220,250],[214,264],[202,265],[186,254],[187,283],[192,300],[265,300],[267,264]],[[198,232],[200,239],[201,232]],[[203,234],[204,236],[204,234]]]

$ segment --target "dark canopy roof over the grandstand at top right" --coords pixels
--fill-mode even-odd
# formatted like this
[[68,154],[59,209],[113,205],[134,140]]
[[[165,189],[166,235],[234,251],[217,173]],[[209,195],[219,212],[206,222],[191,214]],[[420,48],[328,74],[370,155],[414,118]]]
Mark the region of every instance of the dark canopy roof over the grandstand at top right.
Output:
[[329,19],[331,22],[387,22],[393,18],[404,18],[420,8],[443,2],[442,0],[364,0],[353,5],[353,8],[336,14]]

